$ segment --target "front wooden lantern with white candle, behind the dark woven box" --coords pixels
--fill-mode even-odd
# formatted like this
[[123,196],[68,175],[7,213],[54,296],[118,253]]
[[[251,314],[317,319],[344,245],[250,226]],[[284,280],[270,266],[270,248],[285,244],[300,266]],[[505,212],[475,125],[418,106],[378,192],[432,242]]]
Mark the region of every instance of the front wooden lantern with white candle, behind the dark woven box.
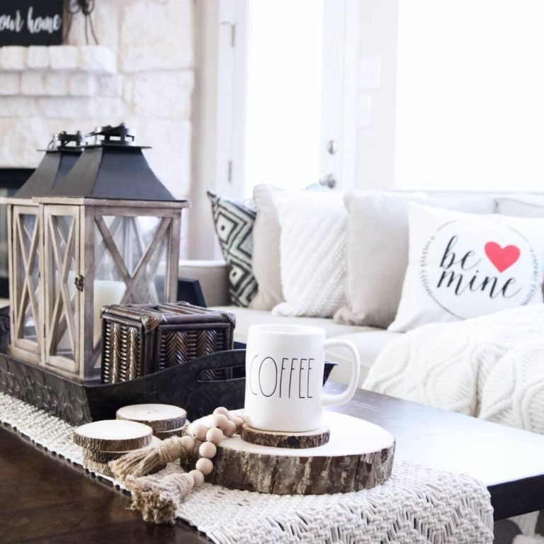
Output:
[[98,128],[74,168],[35,198],[43,221],[42,364],[100,375],[104,305],[176,300],[181,211],[125,125]]

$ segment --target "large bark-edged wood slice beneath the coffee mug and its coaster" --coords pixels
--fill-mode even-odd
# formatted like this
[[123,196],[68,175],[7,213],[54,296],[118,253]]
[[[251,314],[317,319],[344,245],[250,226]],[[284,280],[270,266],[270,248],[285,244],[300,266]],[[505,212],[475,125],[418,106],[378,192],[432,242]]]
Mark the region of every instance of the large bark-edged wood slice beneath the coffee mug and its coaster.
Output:
[[329,442],[317,448],[271,448],[239,435],[225,438],[208,482],[275,494],[326,494],[382,484],[391,475],[395,438],[363,419],[324,412]]

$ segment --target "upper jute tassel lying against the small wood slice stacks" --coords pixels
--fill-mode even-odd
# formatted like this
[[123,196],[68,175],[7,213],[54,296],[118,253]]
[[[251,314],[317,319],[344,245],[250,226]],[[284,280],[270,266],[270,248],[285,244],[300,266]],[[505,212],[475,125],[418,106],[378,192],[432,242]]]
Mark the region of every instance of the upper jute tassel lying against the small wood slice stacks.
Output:
[[128,477],[140,477],[157,472],[176,459],[186,459],[195,446],[192,436],[172,436],[152,448],[127,453],[110,461],[113,476],[124,482]]

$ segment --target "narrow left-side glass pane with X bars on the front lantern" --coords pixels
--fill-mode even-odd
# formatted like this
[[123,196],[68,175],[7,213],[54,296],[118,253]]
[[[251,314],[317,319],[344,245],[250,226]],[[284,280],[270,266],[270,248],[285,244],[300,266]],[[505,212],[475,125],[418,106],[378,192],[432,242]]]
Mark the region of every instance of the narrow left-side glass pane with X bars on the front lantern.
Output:
[[52,237],[52,355],[74,358],[77,341],[77,220],[71,215],[55,215]]

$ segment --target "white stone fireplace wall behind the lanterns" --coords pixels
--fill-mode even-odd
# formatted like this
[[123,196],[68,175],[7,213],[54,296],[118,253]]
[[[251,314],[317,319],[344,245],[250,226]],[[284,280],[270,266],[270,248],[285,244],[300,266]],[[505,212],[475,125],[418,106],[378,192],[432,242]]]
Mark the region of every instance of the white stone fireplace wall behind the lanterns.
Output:
[[[187,198],[194,86],[191,0],[99,0],[100,45],[74,16],[69,45],[0,47],[0,168],[35,167],[54,132],[126,123],[176,198]],[[90,35],[90,34],[89,34]]]

